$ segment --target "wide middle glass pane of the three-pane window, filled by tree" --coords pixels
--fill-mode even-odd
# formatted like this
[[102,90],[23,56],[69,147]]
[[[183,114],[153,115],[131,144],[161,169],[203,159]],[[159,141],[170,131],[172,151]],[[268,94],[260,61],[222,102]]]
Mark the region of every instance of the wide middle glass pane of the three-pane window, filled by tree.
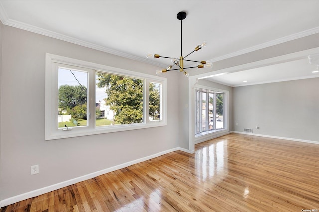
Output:
[[143,80],[96,72],[96,97],[96,126],[143,122]]

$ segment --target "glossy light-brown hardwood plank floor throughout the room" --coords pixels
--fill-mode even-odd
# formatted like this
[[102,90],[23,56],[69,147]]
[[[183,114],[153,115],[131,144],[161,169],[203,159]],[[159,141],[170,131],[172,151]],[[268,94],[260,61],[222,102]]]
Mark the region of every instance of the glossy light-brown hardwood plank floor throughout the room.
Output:
[[319,211],[319,145],[242,134],[197,144],[1,212]]

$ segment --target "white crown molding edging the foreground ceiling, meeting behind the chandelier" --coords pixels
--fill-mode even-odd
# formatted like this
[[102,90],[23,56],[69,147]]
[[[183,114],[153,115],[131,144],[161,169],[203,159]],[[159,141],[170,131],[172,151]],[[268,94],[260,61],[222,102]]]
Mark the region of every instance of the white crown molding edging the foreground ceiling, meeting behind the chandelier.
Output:
[[[104,46],[100,46],[100,45],[96,45],[96,44],[93,44],[93,43],[90,43],[90,42],[86,42],[86,41],[83,41],[83,40],[80,40],[80,39],[77,39],[77,38],[74,38],[74,37],[66,36],[66,35],[63,35],[63,34],[60,34],[60,33],[56,33],[56,32],[49,31],[49,30],[46,30],[46,29],[43,29],[43,28],[39,28],[39,27],[36,27],[36,26],[33,26],[33,25],[29,25],[29,24],[26,24],[26,23],[23,23],[23,22],[20,22],[20,21],[9,19],[9,17],[8,17],[7,13],[5,12],[2,4],[0,5],[0,7],[1,7],[0,18],[1,18],[2,23],[4,25],[12,26],[12,27],[15,27],[15,28],[23,29],[23,30],[26,30],[26,31],[30,31],[30,32],[34,32],[34,33],[37,33],[37,34],[45,35],[45,36],[48,36],[48,37],[52,37],[52,38],[56,38],[56,39],[59,39],[59,40],[67,41],[67,42],[70,42],[70,43],[74,43],[74,44],[81,45],[81,46],[84,46],[84,47],[88,47],[88,48],[91,48],[91,49],[103,51],[103,52],[106,52],[106,53],[109,53],[109,54],[114,54],[114,55],[117,55],[117,56],[125,57],[125,58],[128,58],[128,59],[140,61],[140,62],[143,62],[143,63],[147,63],[147,64],[159,66],[159,67],[164,65],[162,63],[155,62],[155,61],[152,61],[152,60],[148,60],[146,58],[144,59],[144,58],[141,58],[141,57],[137,57],[137,56],[125,53],[125,52],[117,51],[115,49],[110,49],[110,48],[107,48],[107,47],[104,47]],[[253,46],[253,47],[242,49],[242,50],[239,50],[239,51],[236,51],[236,52],[233,52],[233,53],[230,53],[230,54],[226,54],[226,55],[223,55],[223,56],[220,56],[220,57],[212,58],[212,59],[210,59],[208,61],[217,62],[217,61],[220,61],[220,60],[225,60],[225,59],[228,59],[228,58],[231,58],[231,57],[235,57],[235,56],[239,56],[239,55],[246,54],[246,53],[249,53],[249,52],[257,51],[257,50],[260,50],[260,49],[263,49],[263,48],[267,48],[267,47],[270,47],[270,46],[278,45],[278,44],[281,44],[281,43],[285,43],[285,42],[288,42],[288,41],[291,41],[291,40],[295,40],[295,39],[298,39],[298,38],[306,37],[306,36],[309,36],[309,35],[312,35],[312,34],[316,34],[316,33],[319,33],[319,27],[315,27],[315,28],[312,28],[312,29],[308,29],[308,30],[305,30],[305,31],[302,31],[302,32],[298,32],[298,33],[292,34],[292,35],[288,35],[288,36],[285,36],[285,37],[282,37],[282,38],[279,38],[279,39],[275,39],[275,40],[272,40],[272,41],[269,41],[269,42],[266,42],[266,43],[262,43],[262,44],[259,44],[259,45]]]

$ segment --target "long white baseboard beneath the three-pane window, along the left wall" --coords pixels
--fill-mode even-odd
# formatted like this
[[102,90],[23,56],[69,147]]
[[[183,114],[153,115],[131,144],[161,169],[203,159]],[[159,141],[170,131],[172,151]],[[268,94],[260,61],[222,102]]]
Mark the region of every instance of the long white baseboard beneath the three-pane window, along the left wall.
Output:
[[23,194],[20,194],[20,195],[16,195],[14,197],[10,197],[10,198],[4,199],[4,200],[0,201],[0,207],[8,206],[10,204],[13,204],[13,203],[16,203],[16,202],[19,202],[19,201],[22,201],[22,200],[26,200],[26,199],[29,199],[29,198],[32,198],[32,197],[36,197],[36,196],[39,196],[39,195],[42,195],[42,194],[45,194],[45,193],[48,193],[48,192],[63,188],[63,187],[66,187],[66,186],[70,186],[72,184],[79,183],[79,182],[84,181],[84,180],[92,179],[94,177],[97,177],[97,176],[100,176],[100,175],[103,175],[103,174],[106,174],[106,173],[109,173],[109,172],[113,172],[115,170],[123,169],[125,167],[131,166],[131,165],[134,165],[134,164],[137,164],[137,163],[141,163],[143,161],[150,160],[152,158],[156,158],[156,157],[159,157],[161,155],[165,155],[167,153],[174,152],[174,151],[177,151],[177,150],[181,150],[181,151],[184,151],[184,152],[187,152],[187,153],[193,153],[193,152],[191,152],[191,151],[189,151],[187,149],[180,148],[180,147],[176,147],[176,148],[173,148],[173,149],[165,150],[165,151],[162,151],[162,152],[150,155],[150,156],[139,158],[139,159],[136,159],[136,160],[133,160],[133,161],[129,161],[127,163],[123,163],[123,164],[120,164],[120,165],[117,165],[117,166],[113,166],[113,167],[110,167],[110,168],[107,168],[107,169],[103,169],[103,170],[100,170],[100,171],[97,171],[97,172],[93,172],[93,173],[90,173],[90,174],[87,174],[87,175],[83,175],[83,176],[80,176],[80,177],[77,177],[77,178],[73,178],[73,179],[70,179],[70,180],[67,180],[67,181],[63,181],[63,182],[60,182],[60,183],[57,183],[57,184],[54,184],[54,185],[50,185],[50,186],[47,186],[47,187],[43,187],[43,188],[40,188],[40,189],[36,189],[36,190],[30,191],[30,192],[26,192],[26,193],[23,193]]

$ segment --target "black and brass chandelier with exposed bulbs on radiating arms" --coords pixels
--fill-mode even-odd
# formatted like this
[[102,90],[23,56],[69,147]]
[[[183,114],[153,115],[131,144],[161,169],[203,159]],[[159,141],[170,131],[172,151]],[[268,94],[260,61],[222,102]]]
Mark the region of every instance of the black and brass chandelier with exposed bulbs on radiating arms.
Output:
[[[194,61],[194,60],[186,60],[185,58],[194,53],[195,51],[198,51],[199,49],[203,48],[206,46],[206,41],[204,40],[202,44],[198,45],[195,47],[195,49],[190,52],[188,55],[183,57],[183,20],[186,18],[186,12],[179,12],[177,14],[177,19],[180,20],[180,31],[181,31],[181,36],[180,36],[180,41],[181,41],[181,49],[180,49],[180,58],[172,58],[172,57],[165,57],[165,56],[160,56],[159,54],[147,54],[147,58],[168,58],[171,59],[173,65],[168,66],[166,69],[160,69],[156,70],[156,74],[161,74],[165,73],[167,71],[173,71],[173,70],[179,70],[181,72],[184,72],[185,76],[188,77],[189,74],[185,71],[185,69],[191,69],[191,68],[212,68],[212,63],[211,62],[206,62],[206,61]],[[189,62],[194,62],[194,63],[199,63],[197,66],[192,66],[192,67],[184,67],[184,61],[189,61]],[[177,66],[178,68],[174,68],[174,66]]]

